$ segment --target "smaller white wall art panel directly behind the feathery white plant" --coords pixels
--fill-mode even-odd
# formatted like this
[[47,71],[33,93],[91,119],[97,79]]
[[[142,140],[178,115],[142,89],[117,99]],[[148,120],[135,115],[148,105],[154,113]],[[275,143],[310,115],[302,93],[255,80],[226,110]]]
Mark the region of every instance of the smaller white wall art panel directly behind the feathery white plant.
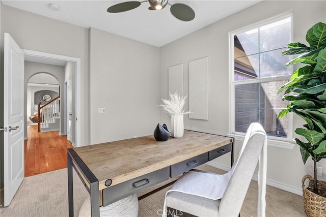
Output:
[[183,96],[183,64],[169,67],[169,92]]

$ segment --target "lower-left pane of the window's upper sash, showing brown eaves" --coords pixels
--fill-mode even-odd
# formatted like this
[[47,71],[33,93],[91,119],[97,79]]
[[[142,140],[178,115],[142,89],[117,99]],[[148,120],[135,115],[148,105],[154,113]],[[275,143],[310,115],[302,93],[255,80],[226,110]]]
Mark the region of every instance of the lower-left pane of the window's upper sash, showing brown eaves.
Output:
[[[234,59],[234,80],[246,80],[259,77],[259,54]],[[238,76],[241,73],[243,76]]]

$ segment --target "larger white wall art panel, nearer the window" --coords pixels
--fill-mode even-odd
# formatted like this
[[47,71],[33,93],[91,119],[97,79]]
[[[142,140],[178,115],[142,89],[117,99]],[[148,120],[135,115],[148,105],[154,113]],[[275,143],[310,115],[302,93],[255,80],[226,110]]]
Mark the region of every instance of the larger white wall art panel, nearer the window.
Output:
[[208,57],[189,61],[189,118],[208,120]]

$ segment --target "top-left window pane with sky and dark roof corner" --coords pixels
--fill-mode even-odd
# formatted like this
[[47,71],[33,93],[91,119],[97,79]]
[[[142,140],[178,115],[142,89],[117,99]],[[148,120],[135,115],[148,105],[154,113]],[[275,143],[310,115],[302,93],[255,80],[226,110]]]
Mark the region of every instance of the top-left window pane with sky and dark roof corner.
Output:
[[234,36],[234,57],[258,53],[258,44],[258,28]]

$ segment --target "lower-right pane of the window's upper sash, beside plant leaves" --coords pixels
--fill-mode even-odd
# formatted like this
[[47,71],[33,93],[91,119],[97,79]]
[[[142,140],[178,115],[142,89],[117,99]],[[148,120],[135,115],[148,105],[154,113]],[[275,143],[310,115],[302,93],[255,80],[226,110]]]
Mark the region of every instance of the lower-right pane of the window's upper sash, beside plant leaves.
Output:
[[260,54],[260,78],[291,74],[291,67],[285,66],[291,56],[283,55],[283,50],[284,48]]

